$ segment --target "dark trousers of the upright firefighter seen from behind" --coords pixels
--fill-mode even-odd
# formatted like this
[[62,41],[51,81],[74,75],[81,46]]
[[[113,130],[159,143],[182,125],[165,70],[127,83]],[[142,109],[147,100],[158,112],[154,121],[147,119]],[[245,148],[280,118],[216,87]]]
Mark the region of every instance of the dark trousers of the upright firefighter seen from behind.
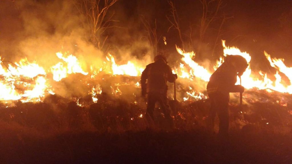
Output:
[[155,108],[156,102],[158,102],[160,104],[162,112],[164,113],[164,117],[167,119],[172,119],[171,118],[171,110],[170,110],[170,107],[168,104],[166,92],[163,92],[163,93],[150,92],[150,93],[148,93],[146,114],[149,115],[154,120],[154,108]]

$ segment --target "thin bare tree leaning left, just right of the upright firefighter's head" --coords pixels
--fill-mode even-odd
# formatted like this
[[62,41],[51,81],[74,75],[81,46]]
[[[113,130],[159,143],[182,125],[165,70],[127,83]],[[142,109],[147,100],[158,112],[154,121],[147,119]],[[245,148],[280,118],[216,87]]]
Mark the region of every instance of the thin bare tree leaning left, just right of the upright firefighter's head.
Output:
[[179,18],[178,18],[178,13],[177,10],[175,8],[175,5],[173,4],[172,1],[168,1],[169,6],[171,7],[171,18],[169,18],[166,15],[167,20],[171,23],[171,26],[168,28],[167,32],[169,31],[169,29],[171,29],[171,27],[175,28],[178,30],[178,35],[180,37],[180,41],[182,42],[182,48],[184,50],[184,43],[183,43],[183,37],[182,37],[182,33],[181,33],[181,29],[180,29],[180,24],[179,24]]

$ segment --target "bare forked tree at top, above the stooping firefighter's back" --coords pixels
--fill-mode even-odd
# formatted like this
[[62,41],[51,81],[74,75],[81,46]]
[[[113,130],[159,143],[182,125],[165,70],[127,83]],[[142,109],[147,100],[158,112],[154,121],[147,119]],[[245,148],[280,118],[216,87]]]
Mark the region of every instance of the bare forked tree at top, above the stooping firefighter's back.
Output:
[[[201,25],[200,25],[200,38],[201,41],[204,41],[206,30],[208,29],[211,22],[217,19],[218,11],[220,7],[222,7],[222,0],[200,0],[203,5],[203,13],[201,17]],[[210,10],[210,6],[213,2],[217,2],[215,5],[215,10]]]

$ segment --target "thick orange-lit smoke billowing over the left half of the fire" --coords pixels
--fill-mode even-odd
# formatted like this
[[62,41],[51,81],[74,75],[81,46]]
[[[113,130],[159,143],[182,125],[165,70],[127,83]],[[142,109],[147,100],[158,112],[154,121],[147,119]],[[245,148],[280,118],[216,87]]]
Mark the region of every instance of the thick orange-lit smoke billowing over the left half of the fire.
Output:
[[[0,1],[0,6],[2,60],[18,62],[21,58],[27,58],[29,62],[36,62],[49,72],[53,65],[63,62],[56,56],[57,52],[62,52],[76,56],[84,71],[89,73],[90,67],[96,70],[102,67],[105,69],[103,74],[112,71],[111,63],[106,60],[108,54],[104,54],[88,39],[82,26],[84,18],[77,14],[72,0],[5,0]],[[114,19],[120,21],[106,33],[109,35],[108,52],[115,57],[117,64],[126,64],[130,60],[136,66],[145,67],[152,62],[152,52],[147,39],[141,39],[143,34],[139,23],[131,18],[125,23],[124,9],[113,9],[118,13]],[[78,96],[88,94],[88,88],[71,85],[82,83],[76,84],[76,77],[70,76],[53,85],[59,95]]]

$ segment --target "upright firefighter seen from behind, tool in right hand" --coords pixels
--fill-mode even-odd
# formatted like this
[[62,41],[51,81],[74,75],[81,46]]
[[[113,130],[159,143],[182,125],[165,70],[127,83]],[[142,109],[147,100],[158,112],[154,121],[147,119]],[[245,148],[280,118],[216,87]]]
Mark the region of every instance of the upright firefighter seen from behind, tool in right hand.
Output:
[[177,78],[178,76],[173,74],[168,66],[164,55],[155,56],[154,62],[146,66],[141,75],[141,89],[142,97],[147,95],[146,118],[148,121],[154,121],[155,104],[159,102],[168,126],[173,127],[167,98],[167,81],[173,83]]

